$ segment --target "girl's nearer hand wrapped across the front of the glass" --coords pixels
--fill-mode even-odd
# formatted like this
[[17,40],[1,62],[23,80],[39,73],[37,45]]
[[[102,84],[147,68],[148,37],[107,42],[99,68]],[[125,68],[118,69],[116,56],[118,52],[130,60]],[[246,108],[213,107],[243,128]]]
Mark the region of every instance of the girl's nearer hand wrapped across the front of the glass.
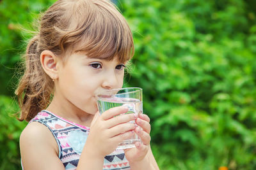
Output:
[[[111,108],[102,115],[96,113],[84,150],[95,157],[104,157],[113,152],[118,143],[131,138],[136,125],[129,121],[135,120],[136,117],[134,114],[120,115],[127,111],[127,107],[120,106]],[[118,116],[115,117],[116,115]]]

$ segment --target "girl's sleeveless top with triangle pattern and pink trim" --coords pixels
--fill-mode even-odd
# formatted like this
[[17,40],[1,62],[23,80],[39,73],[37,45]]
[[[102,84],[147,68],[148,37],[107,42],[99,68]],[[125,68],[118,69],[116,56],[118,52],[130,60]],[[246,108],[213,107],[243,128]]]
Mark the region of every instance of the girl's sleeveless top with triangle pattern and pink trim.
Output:
[[[76,169],[88,133],[90,132],[90,127],[70,122],[46,110],[38,113],[30,122],[39,122],[48,127],[52,136],[57,141],[59,148],[58,156],[65,169]],[[103,170],[117,169],[130,169],[124,150],[115,150],[104,157]]]

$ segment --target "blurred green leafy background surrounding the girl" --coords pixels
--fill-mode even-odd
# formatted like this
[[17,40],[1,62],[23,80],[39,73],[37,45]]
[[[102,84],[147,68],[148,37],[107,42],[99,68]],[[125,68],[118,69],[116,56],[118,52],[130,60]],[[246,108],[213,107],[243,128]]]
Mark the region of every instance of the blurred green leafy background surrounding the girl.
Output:
[[[20,169],[13,94],[33,18],[53,0],[0,1],[0,169]],[[160,169],[256,169],[256,1],[115,1],[134,34]]]

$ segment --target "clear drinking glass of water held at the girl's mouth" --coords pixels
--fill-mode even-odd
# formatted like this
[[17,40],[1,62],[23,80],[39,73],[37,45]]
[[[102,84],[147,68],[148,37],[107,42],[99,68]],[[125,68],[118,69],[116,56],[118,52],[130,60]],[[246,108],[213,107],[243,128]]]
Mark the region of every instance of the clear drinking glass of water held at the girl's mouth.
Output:
[[[122,89],[106,90],[97,95],[97,105],[100,114],[110,108],[118,106],[127,106],[129,108],[127,113],[124,114],[136,114],[143,113],[142,107],[142,89],[139,87],[127,87]],[[134,120],[131,121],[134,124]],[[134,148],[136,142],[141,142],[136,133],[133,134],[131,139],[127,139],[120,143],[116,149]]]

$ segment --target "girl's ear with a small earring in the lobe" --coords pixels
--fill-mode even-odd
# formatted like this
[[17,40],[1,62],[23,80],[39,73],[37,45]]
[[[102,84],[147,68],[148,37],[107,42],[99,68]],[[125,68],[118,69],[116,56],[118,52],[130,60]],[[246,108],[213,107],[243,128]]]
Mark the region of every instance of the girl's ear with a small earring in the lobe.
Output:
[[58,57],[49,50],[44,50],[40,55],[40,62],[46,74],[48,74],[52,80],[58,78],[57,64],[60,62]]

